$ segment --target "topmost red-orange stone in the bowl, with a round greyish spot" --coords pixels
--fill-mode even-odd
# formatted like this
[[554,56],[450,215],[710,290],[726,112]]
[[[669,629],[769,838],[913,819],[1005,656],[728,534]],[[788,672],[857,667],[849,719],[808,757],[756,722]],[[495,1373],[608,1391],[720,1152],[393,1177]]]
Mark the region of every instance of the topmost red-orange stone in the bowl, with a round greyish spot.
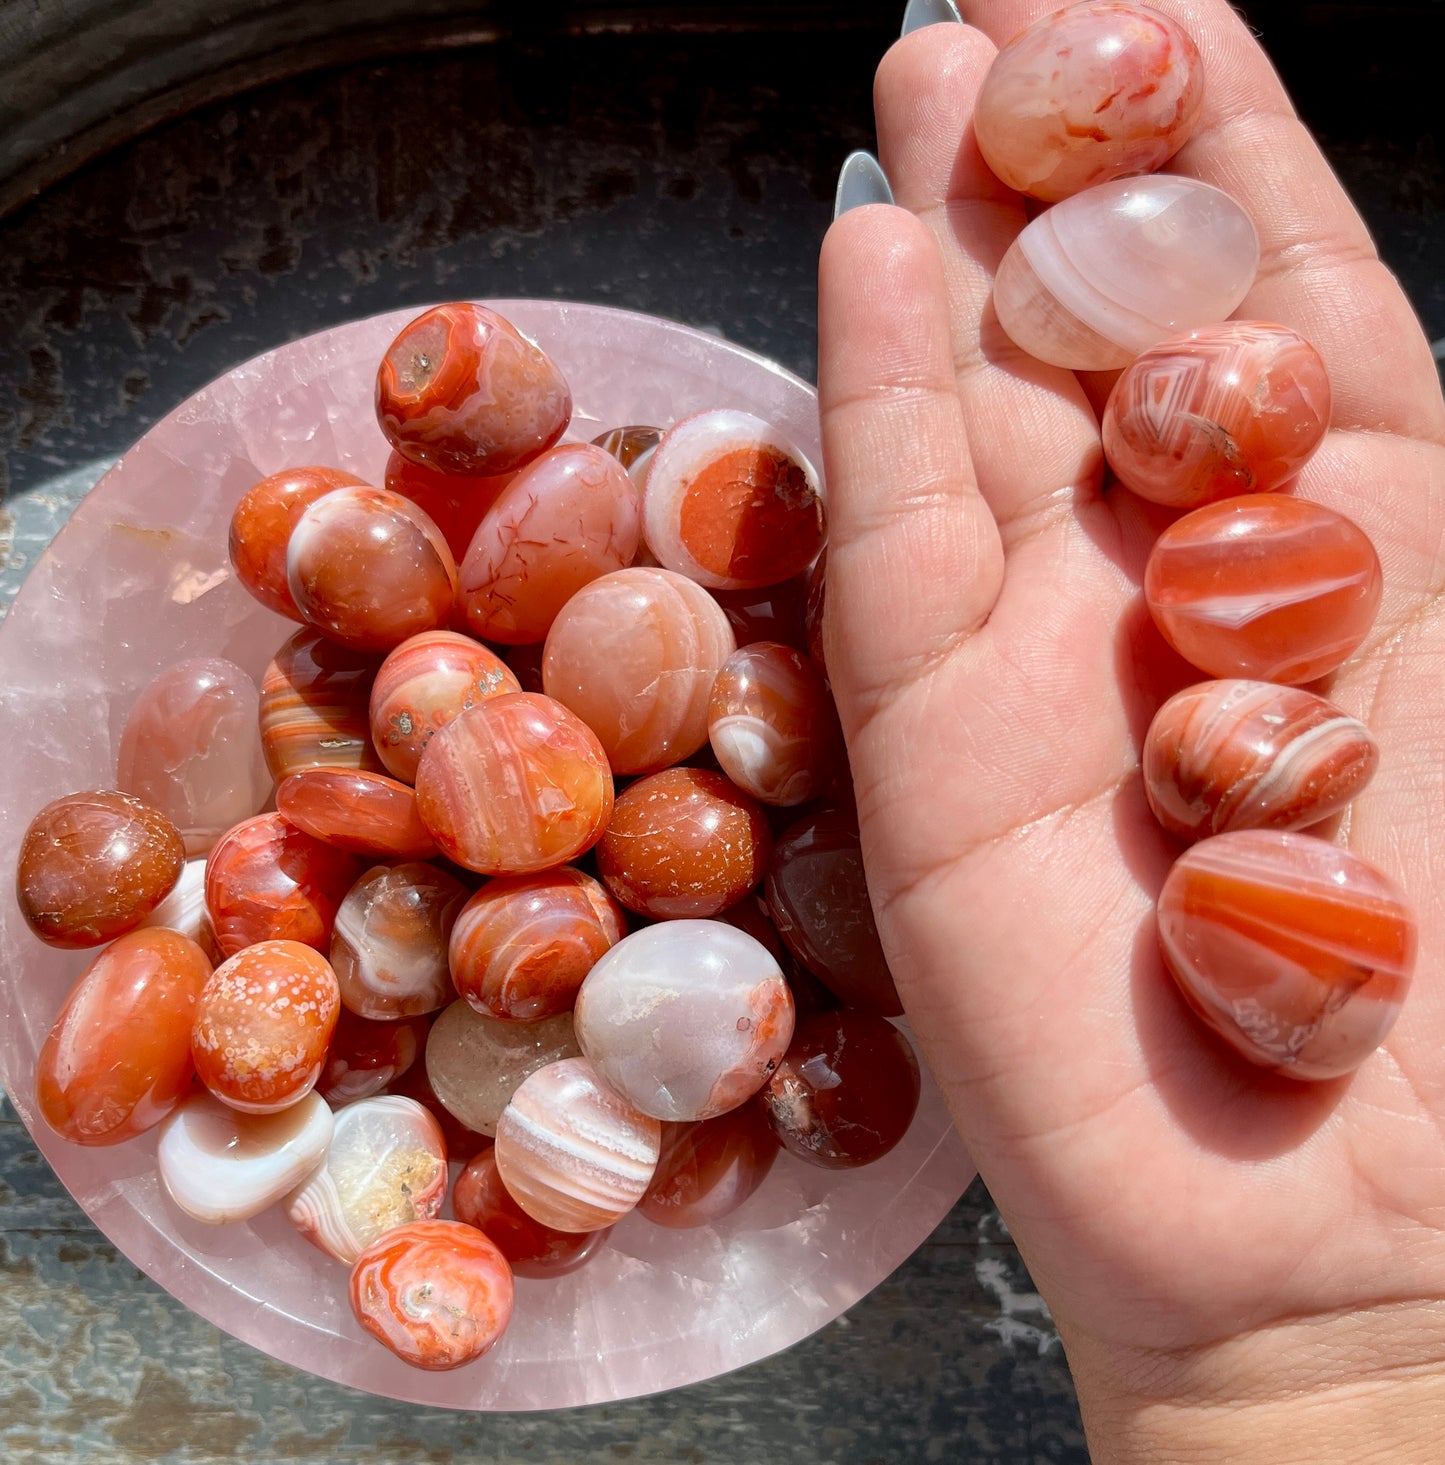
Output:
[[551,357],[484,305],[438,305],[403,327],[377,372],[377,419],[413,463],[497,475],[531,463],[572,418]]

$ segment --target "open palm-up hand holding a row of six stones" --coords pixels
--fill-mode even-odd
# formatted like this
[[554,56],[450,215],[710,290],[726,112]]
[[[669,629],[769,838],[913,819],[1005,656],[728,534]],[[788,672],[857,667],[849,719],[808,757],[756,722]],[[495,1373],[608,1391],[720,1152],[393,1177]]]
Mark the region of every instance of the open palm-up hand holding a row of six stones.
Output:
[[[1199,1458],[1225,1458],[1243,1421],[1263,1442],[1312,1408],[1335,1439],[1445,1377],[1445,406],[1408,303],[1243,22],[1224,0],[1155,7],[1206,67],[1168,167],[1232,193],[1260,234],[1237,315],[1294,327],[1329,366],[1332,428],[1296,491],[1356,520],[1385,571],[1372,636],[1315,687],[1382,747],[1332,834],[1420,920],[1400,1021],[1351,1078],[1234,1058],[1158,955],[1178,847],[1139,750],[1158,705],[1203,680],[1140,595],[1175,516],[1102,486],[1108,379],[999,331],[991,275],[1026,212],[970,129],[997,45],[1057,6],[964,0],[970,23],[890,50],[875,104],[900,207],[844,214],[819,277],[825,645],[869,885],[1108,1459],[1196,1458],[1168,1443],[1175,1417],[1209,1442]],[[1269,1458],[1334,1458],[1300,1449]],[[1416,1456],[1397,1440],[1351,1458]]]

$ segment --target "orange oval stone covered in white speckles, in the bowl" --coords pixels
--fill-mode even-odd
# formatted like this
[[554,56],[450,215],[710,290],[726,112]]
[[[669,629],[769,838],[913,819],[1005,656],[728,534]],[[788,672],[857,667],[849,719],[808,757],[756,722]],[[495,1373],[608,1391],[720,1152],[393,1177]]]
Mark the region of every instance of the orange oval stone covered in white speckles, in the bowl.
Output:
[[321,1077],[341,996],[325,957],[259,941],[223,961],[201,990],[191,1053],[201,1083],[242,1113],[274,1113]]

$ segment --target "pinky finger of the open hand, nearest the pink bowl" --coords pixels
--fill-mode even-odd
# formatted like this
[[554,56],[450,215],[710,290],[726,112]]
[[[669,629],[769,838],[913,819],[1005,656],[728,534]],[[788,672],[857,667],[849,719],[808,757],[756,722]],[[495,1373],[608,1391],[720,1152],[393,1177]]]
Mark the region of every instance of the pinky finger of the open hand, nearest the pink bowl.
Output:
[[844,214],[818,277],[828,667],[851,731],[986,621],[1002,580],[954,393],[938,252],[898,208]]

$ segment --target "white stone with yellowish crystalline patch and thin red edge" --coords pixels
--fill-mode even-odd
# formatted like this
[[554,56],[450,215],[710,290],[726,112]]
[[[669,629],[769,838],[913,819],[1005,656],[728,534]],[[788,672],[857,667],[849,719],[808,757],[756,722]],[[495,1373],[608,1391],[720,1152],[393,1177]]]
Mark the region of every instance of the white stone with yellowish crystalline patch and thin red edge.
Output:
[[415,1099],[381,1094],[336,1115],[325,1159],[286,1200],[292,1225],[350,1266],[378,1236],[431,1220],[447,1198],[441,1125]]

